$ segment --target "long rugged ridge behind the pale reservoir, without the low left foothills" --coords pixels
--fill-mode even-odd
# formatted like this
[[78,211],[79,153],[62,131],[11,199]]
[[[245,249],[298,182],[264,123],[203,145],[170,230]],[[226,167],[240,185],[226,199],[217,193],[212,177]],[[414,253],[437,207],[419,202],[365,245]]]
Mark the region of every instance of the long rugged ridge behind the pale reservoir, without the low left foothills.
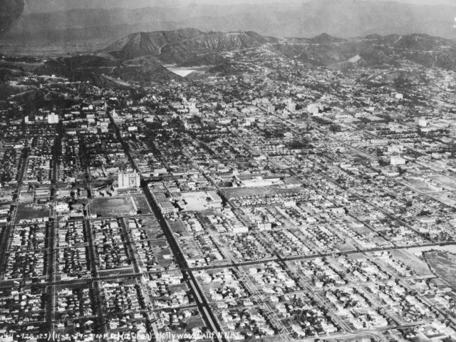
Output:
[[[116,41],[98,56],[120,63],[175,64],[177,66],[215,65],[223,53],[264,48],[286,58],[313,66],[362,61],[367,66],[391,65],[407,60],[423,66],[456,70],[456,41],[425,34],[398,34],[363,38],[336,38],[322,33],[314,38],[274,38],[253,31],[203,32],[195,28],[177,31],[133,33]],[[147,57],[147,59],[145,59]]]

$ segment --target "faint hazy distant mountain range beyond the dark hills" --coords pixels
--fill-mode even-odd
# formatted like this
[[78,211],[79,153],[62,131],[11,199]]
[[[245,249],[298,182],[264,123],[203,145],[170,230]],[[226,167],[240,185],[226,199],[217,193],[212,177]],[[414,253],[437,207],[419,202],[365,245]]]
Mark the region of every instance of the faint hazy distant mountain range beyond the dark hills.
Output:
[[[158,4],[157,1],[154,4]],[[264,36],[342,38],[424,33],[456,38],[456,6],[394,1],[312,0],[265,5],[152,6],[144,9],[71,9],[23,14],[3,41],[114,42],[135,32],[193,27],[201,31],[255,31]]]

